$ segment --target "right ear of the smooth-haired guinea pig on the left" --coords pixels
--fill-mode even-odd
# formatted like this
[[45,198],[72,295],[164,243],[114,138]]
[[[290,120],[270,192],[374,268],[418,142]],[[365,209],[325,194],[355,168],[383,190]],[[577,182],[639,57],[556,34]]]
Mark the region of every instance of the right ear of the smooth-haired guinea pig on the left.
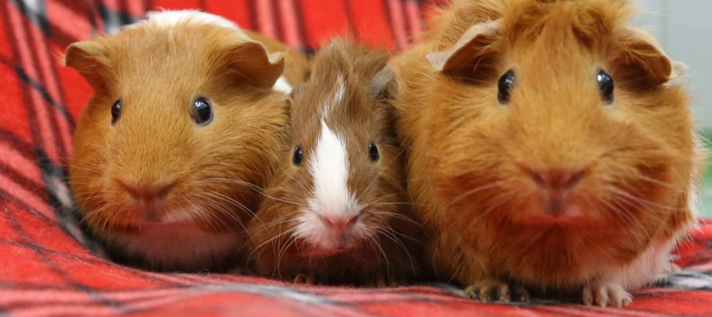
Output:
[[265,46],[256,41],[229,45],[224,58],[226,70],[257,87],[272,87],[284,70],[283,53],[268,53]]

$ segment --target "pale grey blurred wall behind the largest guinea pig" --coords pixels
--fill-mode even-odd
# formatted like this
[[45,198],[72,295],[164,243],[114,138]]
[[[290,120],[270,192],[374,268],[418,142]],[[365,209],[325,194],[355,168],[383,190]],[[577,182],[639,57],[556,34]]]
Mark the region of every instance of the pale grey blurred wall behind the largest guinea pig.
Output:
[[[700,134],[712,138],[712,0],[635,2],[642,12],[634,23],[653,33],[670,58],[689,66],[682,82],[695,97],[692,109]],[[703,215],[712,217],[712,171],[703,179],[703,203]]]

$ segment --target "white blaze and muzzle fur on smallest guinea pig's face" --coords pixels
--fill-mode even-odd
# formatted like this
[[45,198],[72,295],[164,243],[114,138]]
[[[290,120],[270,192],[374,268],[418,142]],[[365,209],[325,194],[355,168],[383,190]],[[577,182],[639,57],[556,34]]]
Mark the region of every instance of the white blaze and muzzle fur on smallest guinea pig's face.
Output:
[[[313,178],[313,193],[307,200],[308,210],[303,210],[298,217],[295,236],[328,249],[340,243],[342,234],[325,226],[321,218],[347,222],[358,215],[363,206],[359,205],[347,186],[349,163],[346,144],[323,120],[308,168]],[[369,235],[369,230],[357,222],[350,228],[349,234],[360,238]]]

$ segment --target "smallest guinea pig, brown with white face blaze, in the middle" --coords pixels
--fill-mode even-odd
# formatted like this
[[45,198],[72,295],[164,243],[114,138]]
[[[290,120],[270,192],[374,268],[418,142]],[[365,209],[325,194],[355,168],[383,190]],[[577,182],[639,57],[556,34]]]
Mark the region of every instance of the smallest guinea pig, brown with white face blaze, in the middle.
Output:
[[420,271],[419,225],[404,188],[389,54],[335,39],[290,98],[291,146],[248,224],[258,274],[385,285]]

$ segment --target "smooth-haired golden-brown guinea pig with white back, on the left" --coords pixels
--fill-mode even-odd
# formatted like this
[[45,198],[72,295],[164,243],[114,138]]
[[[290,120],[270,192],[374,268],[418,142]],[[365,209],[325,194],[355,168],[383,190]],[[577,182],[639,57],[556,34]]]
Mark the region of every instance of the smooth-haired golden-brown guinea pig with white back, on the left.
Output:
[[[70,186],[114,257],[148,269],[221,269],[245,244],[288,141],[286,61],[234,23],[163,11],[68,46],[94,93]],[[284,83],[286,82],[286,83]]]

